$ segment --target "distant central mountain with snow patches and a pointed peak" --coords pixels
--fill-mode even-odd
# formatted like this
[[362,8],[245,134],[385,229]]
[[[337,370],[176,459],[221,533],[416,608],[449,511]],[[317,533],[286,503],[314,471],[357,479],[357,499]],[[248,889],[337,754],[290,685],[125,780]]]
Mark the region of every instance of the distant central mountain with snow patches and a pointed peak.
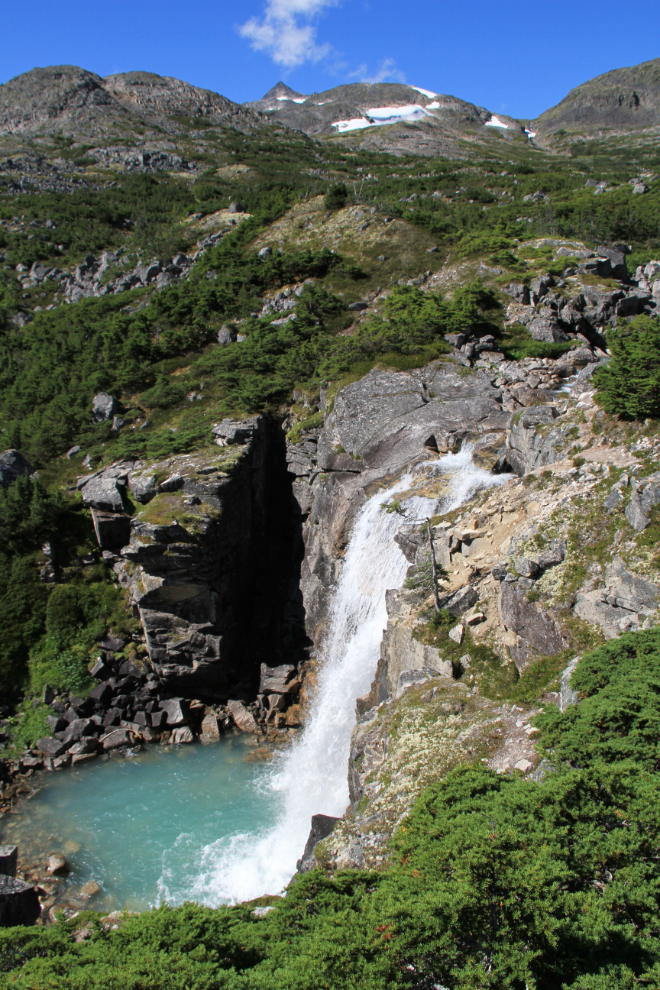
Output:
[[342,136],[360,148],[394,153],[455,157],[462,140],[527,140],[511,117],[401,83],[351,83],[305,96],[279,82],[245,106],[310,137]]

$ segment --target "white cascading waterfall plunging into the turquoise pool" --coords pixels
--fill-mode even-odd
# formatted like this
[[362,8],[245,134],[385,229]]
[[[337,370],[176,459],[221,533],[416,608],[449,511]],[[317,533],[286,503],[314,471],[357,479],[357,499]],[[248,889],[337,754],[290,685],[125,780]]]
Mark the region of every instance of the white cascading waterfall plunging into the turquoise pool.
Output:
[[[506,480],[477,468],[469,448],[422,467],[428,473],[451,476],[443,511],[460,505],[479,488]],[[385,592],[402,584],[408,567],[393,540],[401,516],[385,512],[383,503],[409,490],[411,480],[402,478],[374,495],[355,522],[333,597],[316,700],[304,732],[278,759],[268,781],[273,800],[279,803],[276,825],[263,834],[235,835],[207,846],[187,898],[217,905],[279,892],[295,872],[312,815],[339,816],[346,810],[355,701],[369,690],[376,670],[387,624]],[[412,495],[403,508],[412,521],[431,515],[436,503]],[[163,894],[168,899],[164,884]]]

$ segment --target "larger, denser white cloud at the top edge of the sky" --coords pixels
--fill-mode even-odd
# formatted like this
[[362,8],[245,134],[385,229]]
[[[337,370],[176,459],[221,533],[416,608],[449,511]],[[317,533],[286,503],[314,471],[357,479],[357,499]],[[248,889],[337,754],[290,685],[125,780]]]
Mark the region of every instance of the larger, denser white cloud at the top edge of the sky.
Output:
[[267,0],[261,20],[251,17],[238,28],[258,52],[267,52],[274,62],[292,69],[303,62],[318,62],[331,51],[319,45],[316,27],[310,23],[339,0]]

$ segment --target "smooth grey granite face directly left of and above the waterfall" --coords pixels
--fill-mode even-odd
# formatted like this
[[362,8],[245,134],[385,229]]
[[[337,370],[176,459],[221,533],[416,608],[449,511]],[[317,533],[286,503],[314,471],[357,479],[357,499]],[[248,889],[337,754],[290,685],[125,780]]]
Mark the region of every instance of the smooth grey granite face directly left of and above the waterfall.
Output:
[[497,436],[503,443],[512,417],[501,398],[481,370],[451,360],[410,372],[374,370],[338,393],[322,429],[288,445],[294,511],[304,521],[305,622],[315,643],[366,489],[464,441]]

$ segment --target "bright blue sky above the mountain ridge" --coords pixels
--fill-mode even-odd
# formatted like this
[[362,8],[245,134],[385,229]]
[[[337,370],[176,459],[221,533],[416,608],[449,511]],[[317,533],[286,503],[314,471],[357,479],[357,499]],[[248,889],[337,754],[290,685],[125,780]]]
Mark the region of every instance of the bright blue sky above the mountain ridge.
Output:
[[602,72],[660,56],[660,5],[614,0],[32,0],[5,4],[0,82],[34,66],[145,69],[257,99],[408,82],[533,118]]

